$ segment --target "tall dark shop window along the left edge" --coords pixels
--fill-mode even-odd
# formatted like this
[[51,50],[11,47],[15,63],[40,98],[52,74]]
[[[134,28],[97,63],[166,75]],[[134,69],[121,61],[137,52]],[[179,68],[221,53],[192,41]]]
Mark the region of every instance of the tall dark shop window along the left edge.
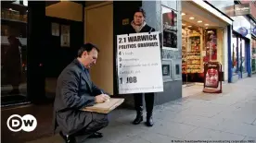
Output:
[[27,4],[25,2],[1,2],[2,105],[26,101],[27,6],[24,5]]

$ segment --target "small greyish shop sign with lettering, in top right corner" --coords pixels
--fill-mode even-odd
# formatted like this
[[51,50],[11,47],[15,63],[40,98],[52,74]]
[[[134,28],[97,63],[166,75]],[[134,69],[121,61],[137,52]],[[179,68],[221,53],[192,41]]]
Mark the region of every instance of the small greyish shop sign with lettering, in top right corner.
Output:
[[229,17],[250,15],[250,4],[239,4],[224,7],[224,13]]

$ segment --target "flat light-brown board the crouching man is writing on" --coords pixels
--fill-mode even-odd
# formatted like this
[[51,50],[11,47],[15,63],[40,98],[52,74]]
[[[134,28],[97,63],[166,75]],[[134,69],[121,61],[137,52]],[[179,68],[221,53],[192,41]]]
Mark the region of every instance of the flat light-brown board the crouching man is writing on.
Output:
[[122,104],[124,99],[121,98],[110,98],[109,101],[96,103],[94,106],[85,107],[82,111],[93,112],[93,113],[110,113]]

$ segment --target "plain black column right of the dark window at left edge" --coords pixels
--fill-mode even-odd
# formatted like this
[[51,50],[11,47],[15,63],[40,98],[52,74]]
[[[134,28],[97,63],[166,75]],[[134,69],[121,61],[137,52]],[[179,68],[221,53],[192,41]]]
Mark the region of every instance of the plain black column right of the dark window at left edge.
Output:
[[45,1],[28,3],[28,97],[36,103],[45,101],[44,75]]

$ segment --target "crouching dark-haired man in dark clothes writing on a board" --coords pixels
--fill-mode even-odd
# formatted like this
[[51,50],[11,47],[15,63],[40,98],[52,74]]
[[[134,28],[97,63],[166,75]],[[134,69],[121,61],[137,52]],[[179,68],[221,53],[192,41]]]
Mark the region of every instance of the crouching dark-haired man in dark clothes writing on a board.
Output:
[[89,68],[96,64],[99,50],[91,43],[83,44],[78,57],[58,77],[54,103],[54,128],[66,143],[75,136],[103,137],[97,132],[109,124],[108,114],[81,111],[84,107],[107,101],[109,95],[91,81]]

